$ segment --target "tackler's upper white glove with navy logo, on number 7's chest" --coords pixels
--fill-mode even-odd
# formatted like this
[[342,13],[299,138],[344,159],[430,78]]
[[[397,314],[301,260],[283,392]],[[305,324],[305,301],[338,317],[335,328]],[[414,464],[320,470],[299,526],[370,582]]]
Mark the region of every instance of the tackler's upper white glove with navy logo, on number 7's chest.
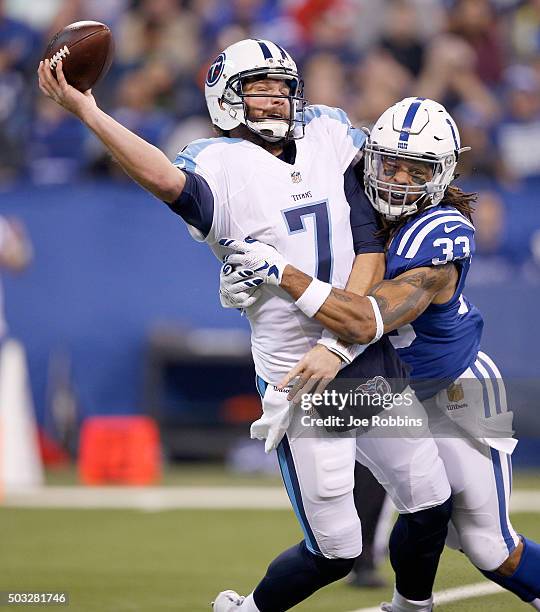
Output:
[[[279,286],[289,262],[274,247],[249,237],[245,240],[222,238],[219,244],[236,251],[223,260],[224,263],[235,266],[236,272],[251,271],[253,276],[262,279],[264,283]],[[243,284],[243,289],[250,289],[256,280],[253,276],[245,281],[241,278],[236,281],[241,286]]]

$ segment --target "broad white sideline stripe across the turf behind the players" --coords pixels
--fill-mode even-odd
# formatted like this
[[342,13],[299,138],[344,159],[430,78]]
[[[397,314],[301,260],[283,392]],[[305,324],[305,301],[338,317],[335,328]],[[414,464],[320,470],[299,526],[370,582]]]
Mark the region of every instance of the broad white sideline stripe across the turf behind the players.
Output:
[[[131,508],[157,512],[175,509],[288,510],[285,490],[276,487],[42,487],[6,493],[0,507]],[[540,513],[540,491],[512,493],[512,512]]]

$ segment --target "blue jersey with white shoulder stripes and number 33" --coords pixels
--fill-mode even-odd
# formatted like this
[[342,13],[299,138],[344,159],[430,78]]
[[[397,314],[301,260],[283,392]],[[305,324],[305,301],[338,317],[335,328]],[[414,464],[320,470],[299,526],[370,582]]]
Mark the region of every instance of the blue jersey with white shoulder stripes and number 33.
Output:
[[412,368],[419,399],[431,397],[474,363],[484,322],[462,294],[474,252],[474,226],[452,206],[439,205],[412,217],[388,248],[385,278],[407,270],[453,262],[459,281],[445,304],[430,304],[412,323],[390,336]]

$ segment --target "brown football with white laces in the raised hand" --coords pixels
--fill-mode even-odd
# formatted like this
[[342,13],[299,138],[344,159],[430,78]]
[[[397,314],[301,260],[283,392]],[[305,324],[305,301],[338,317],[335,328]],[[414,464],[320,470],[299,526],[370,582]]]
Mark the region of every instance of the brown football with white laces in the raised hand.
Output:
[[79,91],[93,87],[107,74],[113,57],[111,31],[98,21],[77,21],[57,32],[43,59],[51,68],[62,60],[66,81]]

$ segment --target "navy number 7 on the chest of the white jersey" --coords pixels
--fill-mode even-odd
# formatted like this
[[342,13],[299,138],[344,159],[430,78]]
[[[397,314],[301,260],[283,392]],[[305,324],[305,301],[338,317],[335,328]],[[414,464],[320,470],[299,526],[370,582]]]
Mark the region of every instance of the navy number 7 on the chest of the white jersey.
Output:
[[322,200],[314,204],[304,204],[295,208],[288,208],[282,212],[289,234],[307,231],[304,222],[305,218],[313,217],[317,256],[317,267],[314,276],[325,283],[329,283],[332,278],[332,247],[330,244],[328,201]]

